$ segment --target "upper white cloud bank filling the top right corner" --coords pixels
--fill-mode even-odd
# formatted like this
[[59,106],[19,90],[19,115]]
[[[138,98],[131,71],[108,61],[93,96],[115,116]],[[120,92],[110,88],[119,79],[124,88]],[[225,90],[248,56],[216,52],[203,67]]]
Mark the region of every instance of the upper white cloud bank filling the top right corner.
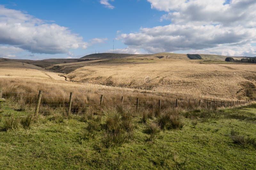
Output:
[[148,1],[158,10],[171,11],[161,19],[171,20],[173,24],[256,26],[255,0],[233,0],[230,4],[224,4],[225,0],[190,0],[179,1],[176,5],[164,3],[169,1]]

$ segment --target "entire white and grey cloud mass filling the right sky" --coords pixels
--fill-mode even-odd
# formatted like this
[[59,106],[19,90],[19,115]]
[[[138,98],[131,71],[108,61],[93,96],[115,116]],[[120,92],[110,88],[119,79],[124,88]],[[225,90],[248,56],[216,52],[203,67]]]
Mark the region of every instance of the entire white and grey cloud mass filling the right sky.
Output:
[[[148,0],[151,8],[166,11],[170,25],[140,28],[121,34],[124,44],[149,53],[178,50],[225,55],[254,55],[255,0]],[[250,48],[249,48],[250,47]]]

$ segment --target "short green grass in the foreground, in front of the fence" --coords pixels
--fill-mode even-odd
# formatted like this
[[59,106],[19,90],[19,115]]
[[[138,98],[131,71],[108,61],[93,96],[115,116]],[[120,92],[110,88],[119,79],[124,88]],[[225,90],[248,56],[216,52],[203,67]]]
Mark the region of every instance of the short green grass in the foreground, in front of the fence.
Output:
[[[7,112],[12,109],[5,107]],[[122,112],[120,121],[131,120]],[[124,112],[124,113],[123,113]],[[108,114],[90,119],[73,115],[41,116],[29,128],[0,131],[0,167],[4,169],[255,169],[256,148],[234,143],[231,129],[239,135],[256,137],[256,104],[215,111],[197,109],[181,112],[184,126],[165,129],[148,140],[148,124],[132,116],[133,137],[110,148],[102,138],[113,125]],[[100,116],[100,118],[97,118]],[[102,117],[101,117],[102,116]],[[183,117],[184,116],[184,117]],[[186,118],[187,117],[187,118]],[[2,117],[0,126],[5,117]],[[85,119],[85,121],[84,121]],[[83,120],[83,121],[81,121]],[[92,122],[95,122],[96,125]],[[97,124],[98,123],[98,124]],[[87,128],[88,125],[92,126]],[[108,125],[108,126],[107,126]],[[120,124],[120,126],[123,123]],[[90,129],[93,135],[87,136]],[[115,129],[113,127],[112,129]],[[84,137],[87,136],[87,137]],[[0,168],[0,169],[1,169]]]

